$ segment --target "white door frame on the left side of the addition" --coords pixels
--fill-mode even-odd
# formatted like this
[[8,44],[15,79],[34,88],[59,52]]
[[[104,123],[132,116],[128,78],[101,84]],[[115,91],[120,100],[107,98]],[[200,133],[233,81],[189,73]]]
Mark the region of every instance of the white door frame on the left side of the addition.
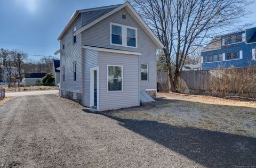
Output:
[[100,109],[99,66],[90,68],[90,107],[94,106],[94,71],[97,74],[97,110]]

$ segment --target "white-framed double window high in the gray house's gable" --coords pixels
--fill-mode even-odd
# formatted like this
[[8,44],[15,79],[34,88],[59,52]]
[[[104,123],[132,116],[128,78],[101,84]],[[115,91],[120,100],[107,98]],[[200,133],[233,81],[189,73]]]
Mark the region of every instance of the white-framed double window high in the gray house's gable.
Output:
[[124,47],[138,46],[137,28],[110,23],[110,44]]

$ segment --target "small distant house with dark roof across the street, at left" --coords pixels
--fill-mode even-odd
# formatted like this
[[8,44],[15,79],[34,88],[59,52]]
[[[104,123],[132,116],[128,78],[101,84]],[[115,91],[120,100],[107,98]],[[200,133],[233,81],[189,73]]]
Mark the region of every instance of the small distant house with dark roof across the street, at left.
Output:
[[25,86],[40,86],[45,75],[46,73],[27,73],[21,82],[24,83]]

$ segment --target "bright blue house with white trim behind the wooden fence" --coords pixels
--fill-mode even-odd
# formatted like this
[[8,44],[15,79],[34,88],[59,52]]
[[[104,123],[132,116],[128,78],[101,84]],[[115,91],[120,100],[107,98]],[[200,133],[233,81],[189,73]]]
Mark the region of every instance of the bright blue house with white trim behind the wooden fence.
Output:
[[255,66],[256,27],[215,37],[202,50],[202,69]]

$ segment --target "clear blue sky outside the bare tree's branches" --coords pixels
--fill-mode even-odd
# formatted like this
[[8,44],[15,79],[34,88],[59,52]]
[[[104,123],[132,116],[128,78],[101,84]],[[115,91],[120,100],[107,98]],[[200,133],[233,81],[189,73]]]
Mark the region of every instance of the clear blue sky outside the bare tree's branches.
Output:
[[[75,10],[123,3],[123,0],[0,0],[0,48],[19,49],[39,60],[59,49],[57,40]],[[252,12],[256,3],[248,7]],[[256,12],[244,23],[255,22]]]

